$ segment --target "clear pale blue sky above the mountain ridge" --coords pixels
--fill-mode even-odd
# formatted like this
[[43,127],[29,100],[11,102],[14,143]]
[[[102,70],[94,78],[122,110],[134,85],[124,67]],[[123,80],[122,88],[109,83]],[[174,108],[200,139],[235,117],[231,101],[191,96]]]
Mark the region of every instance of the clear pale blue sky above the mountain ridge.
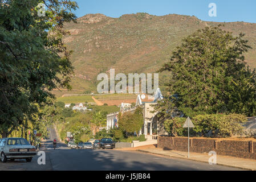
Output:
[[[148,13],[152,15],[194,15],[201,20],[213,22],[256,23],[256,0],[74,0],[79,9],[76,15],[101,13],[113,18],[123,14]],[[210,17],[208,5],[215,3],[217,16]]]

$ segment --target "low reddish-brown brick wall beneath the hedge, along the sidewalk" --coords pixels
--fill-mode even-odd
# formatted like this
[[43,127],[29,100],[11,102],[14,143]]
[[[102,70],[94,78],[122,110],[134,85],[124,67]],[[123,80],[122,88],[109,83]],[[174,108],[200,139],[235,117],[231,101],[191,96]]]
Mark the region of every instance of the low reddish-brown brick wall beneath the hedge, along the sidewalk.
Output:
[[[191,152],[216,151],[217,155],[256,160],[256,142],[253,141],[192,138],[189,143]],[[188,151],[188,138],[159,137],[157,147],[163,150]]]

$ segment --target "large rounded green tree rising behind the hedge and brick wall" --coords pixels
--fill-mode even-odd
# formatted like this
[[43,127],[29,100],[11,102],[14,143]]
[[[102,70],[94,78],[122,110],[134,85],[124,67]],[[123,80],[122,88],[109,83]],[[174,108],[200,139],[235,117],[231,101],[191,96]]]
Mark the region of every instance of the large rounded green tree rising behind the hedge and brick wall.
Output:
[[171,73],[168,95],[156,111],[173,117],[214,113],[256,115],[256,76],[243,54],[250,49],[245,35],[206,27],[183,40],[161,69]]

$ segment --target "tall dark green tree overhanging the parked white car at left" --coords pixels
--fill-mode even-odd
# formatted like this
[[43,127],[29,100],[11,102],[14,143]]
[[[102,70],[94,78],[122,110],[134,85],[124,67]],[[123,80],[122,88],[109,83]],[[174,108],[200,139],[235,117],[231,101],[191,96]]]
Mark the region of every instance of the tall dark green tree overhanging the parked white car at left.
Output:
[[[73,67],[63,43],[66,22],[75,22],[76,2],[64,0],[0,0],[0,134],[8,137],[36,104],[54,97],[50,91],[68,84]],[[38,5],[47,6],[38,16]]]

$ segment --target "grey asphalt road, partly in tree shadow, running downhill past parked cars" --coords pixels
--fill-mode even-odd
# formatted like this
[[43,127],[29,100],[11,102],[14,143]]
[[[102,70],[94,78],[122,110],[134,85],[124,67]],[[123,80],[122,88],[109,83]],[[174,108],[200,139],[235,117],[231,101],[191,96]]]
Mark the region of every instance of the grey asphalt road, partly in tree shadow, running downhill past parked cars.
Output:
[[175,159],[144,154],[135,151],[120,150],[76,150],[70,149],[66,144],[58,143],[56,150],[52,146],[52,139],[56,138],[55,131],[51,130],[50,140],[46,142],[46,165],[38,165],[35,156],[31,163],[25,160],[15,160],[0,164],[13,165],[6,170],[54,170],[54,171],[212,171],[212,170],[238,170],[237,168],[210,165],[186,159]]

